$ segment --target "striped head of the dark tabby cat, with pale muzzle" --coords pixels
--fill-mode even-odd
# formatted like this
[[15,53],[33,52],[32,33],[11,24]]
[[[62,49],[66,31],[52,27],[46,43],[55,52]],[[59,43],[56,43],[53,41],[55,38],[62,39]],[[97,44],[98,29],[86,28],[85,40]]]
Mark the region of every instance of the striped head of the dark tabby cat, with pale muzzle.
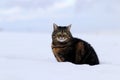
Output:
[[58,26],[54,23],[52,39],[56,42],[61,42],[61,43],[70,41],[72,39],[70,28],[71,25]]

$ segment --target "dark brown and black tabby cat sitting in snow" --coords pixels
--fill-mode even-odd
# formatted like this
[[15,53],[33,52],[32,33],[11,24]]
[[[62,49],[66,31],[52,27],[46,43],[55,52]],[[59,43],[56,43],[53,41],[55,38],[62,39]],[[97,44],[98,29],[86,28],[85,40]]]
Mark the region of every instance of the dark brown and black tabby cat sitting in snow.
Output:
[[58,26],[54,23],[53,28],[51,47],[58,62],[99,64],[98,56],[93,47],[86,41],[72,36],[71,25]]

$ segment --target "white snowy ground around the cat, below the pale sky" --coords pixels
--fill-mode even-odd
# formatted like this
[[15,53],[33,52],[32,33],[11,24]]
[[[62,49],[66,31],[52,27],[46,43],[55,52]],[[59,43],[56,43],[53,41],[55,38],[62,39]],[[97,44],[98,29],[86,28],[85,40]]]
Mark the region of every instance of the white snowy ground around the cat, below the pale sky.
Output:
[[58,63],[51,34],[0,32],[0,80],[120,80],[120,36],[73,34],[91,43],[100,65]]

